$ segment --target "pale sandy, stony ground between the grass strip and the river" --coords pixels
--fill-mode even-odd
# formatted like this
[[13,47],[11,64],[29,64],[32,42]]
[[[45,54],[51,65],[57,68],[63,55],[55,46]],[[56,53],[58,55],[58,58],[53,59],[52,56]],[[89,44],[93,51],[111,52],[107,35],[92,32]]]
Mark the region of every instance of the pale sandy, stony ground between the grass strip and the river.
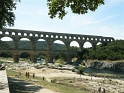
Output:
[[[45,69],[45,70],[44,70]],[[124,80],[123,79],[110,79],[110,78],[102,78],[102,77],[94,77],[84,76],[76,74],[72,71],[68,70],[58,70],[58,69],[50,69],[50,68],[42,68],[42,69],[27,69],[23,70],[23,72],[35,73],[37,76],[45,77],[48,81],[51,81],[53,77],[74,77],[76,81],[73,82],[73,85],[85,85],[88,90],[96,91],[99,87],[105,88],[107,93],[122,93],[124,92]]]

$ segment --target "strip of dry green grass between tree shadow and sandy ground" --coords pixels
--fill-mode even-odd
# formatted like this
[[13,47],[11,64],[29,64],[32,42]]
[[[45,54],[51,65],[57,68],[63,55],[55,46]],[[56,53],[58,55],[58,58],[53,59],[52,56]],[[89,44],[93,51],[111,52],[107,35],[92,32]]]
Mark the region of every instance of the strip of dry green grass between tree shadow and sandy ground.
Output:
[[[18,75],[18,74],[19,74],[19,72],[16,72],[13,70],[7,70],[7,75],[9,77],[8,80],[10,79],[10,77],[15,79],[15,75]],[[22,82],[28,82],[28,83],[32,83],[32,84],[37,85],[37,86],[45,87],[45,88],[48,88],[50,90],[56,91],[58,93],[89,93],[89,92],[83,91],[81,89],[78,89],[76,87],[66,86],[66,85],[61,85],[61,84],[55,84],[55,83],[48,82],[46,80],[43,81],[43,79],[41,77],[35,77],[35,79],[31,79],[31,80],[26,79],[24,73],[21,74],[20,78],[16,78],[16,80],[19,80],[19,81],[21,80]],[[26,92],[24,86],[21,86],[18,84],[13,85],[12,82],[10,82],[10,90],[14,90],[14,87],[12,87],[12,86],[16,86],[16,88],[17,88],[16,90],[19,91],[18,93],[28,93],[28,92]],[[32,93],[32,92],[30,92],[30,93]]]

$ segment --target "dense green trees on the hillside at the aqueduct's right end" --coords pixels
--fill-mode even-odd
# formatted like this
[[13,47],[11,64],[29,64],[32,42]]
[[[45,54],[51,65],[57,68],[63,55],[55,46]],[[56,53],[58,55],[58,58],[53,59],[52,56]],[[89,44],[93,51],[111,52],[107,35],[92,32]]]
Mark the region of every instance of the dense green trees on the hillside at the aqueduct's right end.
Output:
[[98,45],[95,50],[92,48],[84,49],[80,56],[83,59],[98,60],[120,60],[124,59],[124,40],[116,40],[106,46]]

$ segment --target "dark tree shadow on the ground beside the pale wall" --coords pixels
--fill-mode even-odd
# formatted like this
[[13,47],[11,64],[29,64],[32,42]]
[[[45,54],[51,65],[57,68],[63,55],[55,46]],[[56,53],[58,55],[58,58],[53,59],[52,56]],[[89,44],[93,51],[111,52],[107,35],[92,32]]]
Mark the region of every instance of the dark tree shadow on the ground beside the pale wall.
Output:
[[10,93],[35,93],[42,89],[41,86],[36,86],[33,83],[12,77],[8,77],[8,84]]

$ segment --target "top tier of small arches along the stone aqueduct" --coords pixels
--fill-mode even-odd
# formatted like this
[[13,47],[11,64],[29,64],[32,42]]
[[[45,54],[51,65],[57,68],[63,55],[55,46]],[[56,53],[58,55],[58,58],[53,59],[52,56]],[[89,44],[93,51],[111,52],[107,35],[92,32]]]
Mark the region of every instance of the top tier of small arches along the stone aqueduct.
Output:
[[52,33],[52,32],[28,31],[28,30],[17,30],[17,29],[3,29],[2,31],[0,31],[0,35],[36,37],[36,38],[37,37],[53,38],[53,39],[71,39],[71,40],[91,40],[91,41],[112,41],[113,40],[113,38],[107,38],[102,36]]

